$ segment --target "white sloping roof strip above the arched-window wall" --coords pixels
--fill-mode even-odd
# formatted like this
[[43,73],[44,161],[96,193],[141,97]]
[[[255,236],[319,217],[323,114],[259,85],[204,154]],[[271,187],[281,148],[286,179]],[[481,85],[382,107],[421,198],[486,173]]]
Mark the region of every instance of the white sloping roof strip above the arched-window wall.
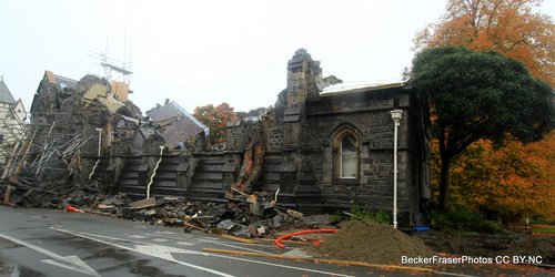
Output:
[[383,80],[373,82],[353,82],[353,83],[339,83],[324,88],[320,92],[320,96],[332,96],[339,94],[347,94],[363,91],[376,91],[383,89],[402,88],[405,81],[402,80]]

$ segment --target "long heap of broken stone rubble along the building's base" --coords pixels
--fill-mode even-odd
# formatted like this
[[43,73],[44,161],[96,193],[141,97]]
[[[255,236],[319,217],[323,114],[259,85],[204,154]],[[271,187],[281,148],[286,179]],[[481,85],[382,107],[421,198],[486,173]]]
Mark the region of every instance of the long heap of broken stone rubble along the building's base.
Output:
[[[3,194],[7,182],[0,184]],[[275,233],[290,228],[314,227],[314,217],[282,209],[265,194],[230,199],[228,203],[192,202],[173,196],[132,201],[125,194],[105,193],[102,184],[51,179],[31,182],[20,177],[11,184],[11,205],[26,208],[67,209],[68,206],[85,213],[122,217],[162,226],[184,227],[185,232],[200,229],[212,234],[230,234],[242,238],[275,237]],[[258,201],[253,201],[258,199]],[[329,223],[329,217],[319,223]]]

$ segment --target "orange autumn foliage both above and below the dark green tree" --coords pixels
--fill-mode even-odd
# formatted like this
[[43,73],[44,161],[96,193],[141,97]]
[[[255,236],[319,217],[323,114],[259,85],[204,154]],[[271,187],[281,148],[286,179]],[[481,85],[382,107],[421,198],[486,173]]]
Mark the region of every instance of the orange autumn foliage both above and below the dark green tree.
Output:
[[[523,62],[532,75],[554,88],[555,27],[548,16],[534,13],[538,0],[450,0],[444,17],[414,39],[415,49],[463,45],[495,50]],[[481,140],[454,161],[453,201],[503,215],[554,218],[555,132],[522,144],[508,140],[501,148]],[[437,145],[436,145],[437,146]],[[433,148],[438,157],[438,147]],[[432,161],[440,178],[441,162]],[[432,183],[438,182],[433,179]],[[546,205],[547,204],[547,205]]]

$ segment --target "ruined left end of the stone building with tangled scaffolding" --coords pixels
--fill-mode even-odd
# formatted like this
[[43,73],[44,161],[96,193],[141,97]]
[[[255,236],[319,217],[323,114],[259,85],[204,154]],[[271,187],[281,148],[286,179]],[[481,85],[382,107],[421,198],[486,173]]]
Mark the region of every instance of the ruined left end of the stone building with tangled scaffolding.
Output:
[[46,71],[31,105],[26,170],[39,179],[68,173],[82,179],[94,164],[87,157],[109,155],[112,143],[133,138],[135,132],[113,126],[122,117],[141,119],[141,112],[127,101],[127,88],[114,83],[94,75],[77,81]]

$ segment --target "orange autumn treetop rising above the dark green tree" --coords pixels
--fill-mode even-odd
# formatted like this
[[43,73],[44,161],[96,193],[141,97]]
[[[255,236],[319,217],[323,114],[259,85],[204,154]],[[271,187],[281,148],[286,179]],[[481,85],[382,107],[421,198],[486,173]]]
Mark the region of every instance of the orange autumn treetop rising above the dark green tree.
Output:
[[440,22],[414,39],[415,49],[462,45],[494,50],[523,62],[532,75],[555,86],[555,25],[534,13],[541,0],[450,0]]

